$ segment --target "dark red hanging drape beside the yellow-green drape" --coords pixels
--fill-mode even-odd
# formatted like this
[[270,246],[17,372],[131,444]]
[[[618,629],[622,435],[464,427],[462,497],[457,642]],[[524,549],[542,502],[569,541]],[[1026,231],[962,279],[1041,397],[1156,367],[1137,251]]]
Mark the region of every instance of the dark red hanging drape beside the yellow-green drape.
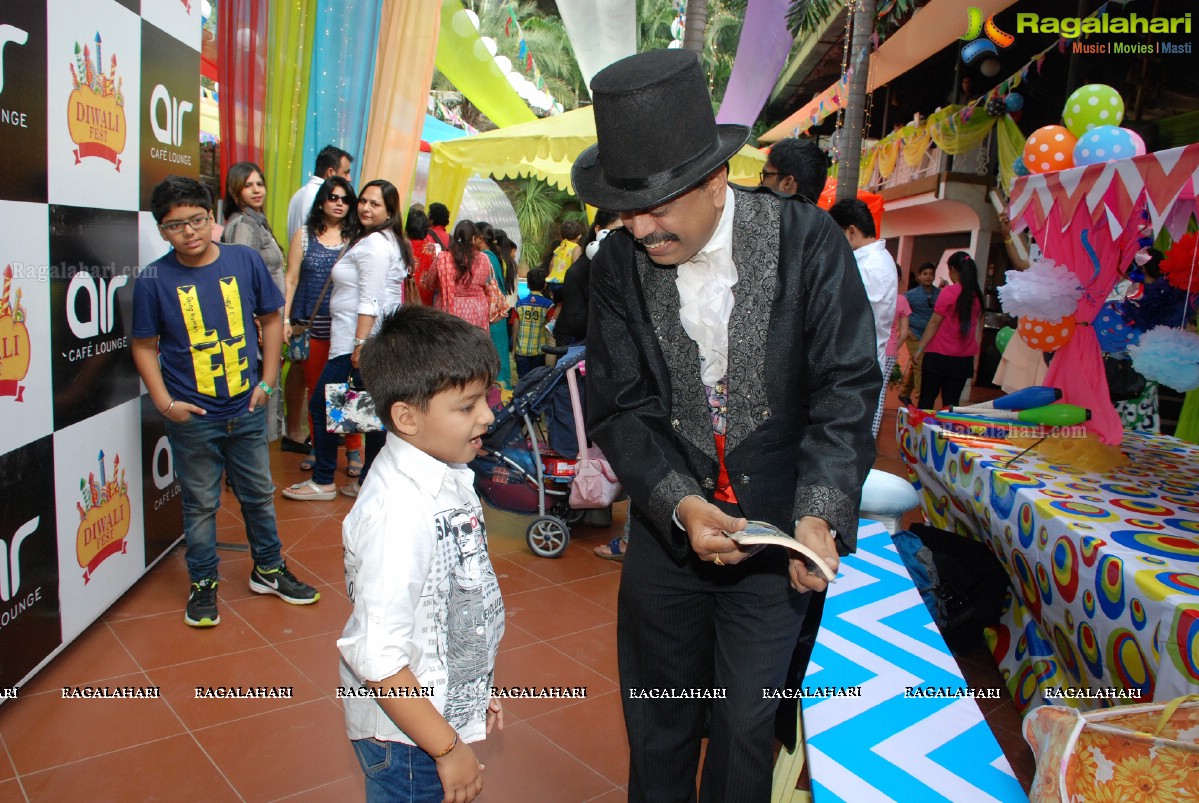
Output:
[[221,185],[236,162],[263,164],[266,109],[266,0],[218,0]]

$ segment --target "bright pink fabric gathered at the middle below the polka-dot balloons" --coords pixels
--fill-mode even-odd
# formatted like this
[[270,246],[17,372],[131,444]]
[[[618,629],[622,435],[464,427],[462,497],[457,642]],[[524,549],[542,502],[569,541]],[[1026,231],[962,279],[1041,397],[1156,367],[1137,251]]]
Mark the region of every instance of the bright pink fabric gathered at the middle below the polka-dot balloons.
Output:
[[[1144,206],[1145,200],[1140,198],[1128,211],[1139,216]],[[1066,265],[1078,277],[1083,297],[1074,312],[1079,326],[1074,337],[1054,355],[1046,385],[1060,387],[1064,402],[1090,409],[1091,421],[1086,428],[1104,443],[1119,445],[1123,427],[1110,402],[1103,352],[1090,324],[1099,314],[1121,270],[1132,261],[1138,233],[1135,227],[1127,227],[1113,240],[1108,222],[1099,216],[1099,222],[1092,223],[1085,204],[1076,206],[1068,219],[1064,219],[1064,205],[1052,206],[1044,227],[1035,234],[1046,258]]]

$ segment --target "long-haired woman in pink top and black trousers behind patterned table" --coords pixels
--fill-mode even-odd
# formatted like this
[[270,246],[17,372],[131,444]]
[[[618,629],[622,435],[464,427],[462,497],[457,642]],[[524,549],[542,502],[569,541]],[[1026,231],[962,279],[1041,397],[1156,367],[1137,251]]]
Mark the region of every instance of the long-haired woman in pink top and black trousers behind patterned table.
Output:
[[923,376],[920,385],[922,410],[934,409],[938,394],[942,406],[958,404],[962,388],[974,375],[974,358],[978,354],[982,291],[978,268],[964,250],[950,256],[950,279],[953,284],[938,296],[916,351]]

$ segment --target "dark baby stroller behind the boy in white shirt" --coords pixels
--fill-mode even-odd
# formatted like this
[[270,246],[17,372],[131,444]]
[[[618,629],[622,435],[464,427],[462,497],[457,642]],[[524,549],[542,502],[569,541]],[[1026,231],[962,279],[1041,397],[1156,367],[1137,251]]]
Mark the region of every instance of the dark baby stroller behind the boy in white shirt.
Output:
[[570,496],[579,458],[588,453],[578,379],[585,349],[544,350],[561,357],[553,368],[520,378],[512,402],[495,409],[483,453],[470,467],[489,505],[537,514],[525,533],[529,549],[540,557],[559,557],[571,542],[571,525],[584,515],[571,507]]

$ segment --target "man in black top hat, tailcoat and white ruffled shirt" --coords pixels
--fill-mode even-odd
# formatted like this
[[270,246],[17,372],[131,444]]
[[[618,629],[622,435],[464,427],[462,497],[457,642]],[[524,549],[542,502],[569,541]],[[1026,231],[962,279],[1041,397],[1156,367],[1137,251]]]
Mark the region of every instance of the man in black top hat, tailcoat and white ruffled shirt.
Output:
[[625,222],[592,261],[586,381],[588,431],[633,519],[617,621],[628,796],[695,799],[706,724],[701,799],[767,801],[781,695],[764,690],[794,682],[826,582],[724,533],[765,520],[833,569],[854,550],[881,384],[873,316],[825,212],[729,186],[748,131],[716,125],[694,54],[623,59],[591,95],[598,143],[574,188]]

